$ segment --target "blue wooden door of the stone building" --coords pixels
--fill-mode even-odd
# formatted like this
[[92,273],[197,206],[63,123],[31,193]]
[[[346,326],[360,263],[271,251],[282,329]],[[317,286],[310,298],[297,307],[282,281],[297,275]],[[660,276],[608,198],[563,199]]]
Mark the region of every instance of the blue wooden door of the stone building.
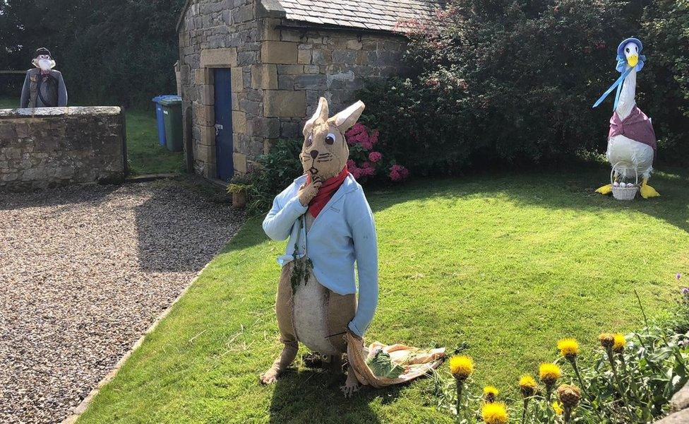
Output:
[[229,69],[215,69],[215,162],[217,177],[223,181],[234,175],[231,81]]

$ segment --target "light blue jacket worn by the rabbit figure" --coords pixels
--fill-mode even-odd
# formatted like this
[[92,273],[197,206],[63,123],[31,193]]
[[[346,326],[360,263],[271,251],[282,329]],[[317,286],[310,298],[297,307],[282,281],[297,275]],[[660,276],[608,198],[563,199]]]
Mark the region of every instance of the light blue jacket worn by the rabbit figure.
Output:
[[318,282],[337,294],[357,293],[354,261],[357,262],[359,302],[357,314],[348,326],[363,337],[378,305],[378,244],[371,207],[364,189],[348,175],[313,220],[307,239],[307,208],[301,206],[297,197],[305,181],[306,175],[302,175],[275,197],[263,220],[263,230],[272,240],[289,237],[284,255],[277,258],[280,266],[308,256]]

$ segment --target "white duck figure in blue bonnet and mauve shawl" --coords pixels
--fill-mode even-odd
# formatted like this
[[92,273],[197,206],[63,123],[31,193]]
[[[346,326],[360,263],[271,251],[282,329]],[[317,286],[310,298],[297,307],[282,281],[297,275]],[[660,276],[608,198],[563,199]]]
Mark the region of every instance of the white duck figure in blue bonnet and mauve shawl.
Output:
[[[613,116],[610,118],[608,149],[606,158],[612,166],[611,184],[600,187],[596,192],[615,195],[616,190],[633,190],[636,194],[638,178],[642,178],[639,192],[644,199],[660,196],[648,185],[653,170],[653,159],[656,153],[656,136],[651,119],[637,107],[634,100],[636,93],[636,76],[644,67],[646,57],[641,54],[643,45],[637,38],[628,38],[617,47],[617,71],[621,76],[597,100],[593,107],[605,100],[616,90],[613,105]],[[634,182],[625,179],[634,178]],[[620,198],[615,195],[616,198]]]

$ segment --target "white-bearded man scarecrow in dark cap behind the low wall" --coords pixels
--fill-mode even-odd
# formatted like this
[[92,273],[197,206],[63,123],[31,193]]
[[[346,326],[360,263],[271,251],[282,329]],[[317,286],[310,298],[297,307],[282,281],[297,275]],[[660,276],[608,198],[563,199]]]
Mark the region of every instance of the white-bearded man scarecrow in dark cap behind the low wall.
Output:
[[62,74],[55,71],[55,61],[45,47],[36,50],[26,71],[20,107],[64,107],[67,105],[67,89]]

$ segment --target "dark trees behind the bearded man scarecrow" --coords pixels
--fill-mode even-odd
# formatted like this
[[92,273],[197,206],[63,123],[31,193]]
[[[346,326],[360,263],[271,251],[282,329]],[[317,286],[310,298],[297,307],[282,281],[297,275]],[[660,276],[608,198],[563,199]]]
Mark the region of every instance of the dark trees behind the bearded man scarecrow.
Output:
[[184,0],[0,0],[0,69],[28,69],[34,50],[47,47],[71,99],[148,102],[152,95],[174,92],[175,24],[183,5]]

